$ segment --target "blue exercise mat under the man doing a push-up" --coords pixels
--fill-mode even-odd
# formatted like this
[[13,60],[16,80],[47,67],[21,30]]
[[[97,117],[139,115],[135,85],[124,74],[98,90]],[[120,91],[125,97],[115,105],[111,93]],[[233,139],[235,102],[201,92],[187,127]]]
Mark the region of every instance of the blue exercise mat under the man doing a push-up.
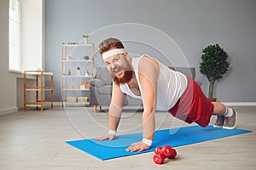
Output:
[[252,131],[242,129],[227,130],[223,128],[214,128],[212,126],[192,126],[159,130],[154,134],[154,142],[151,148],[142,152],[128,152],[125,150],[132,143],[141,141],[143,138],[142,133],[120,135],[114,140],[96,141],[96,139],[80,139],[67,141],[66,143],[79,150],[83,150],[91,156],[95,156],[101,160],[108,160],[122,156],[143,154],[154,151],[156,147],[167,144],[172,147],[177,147],[250,132]]

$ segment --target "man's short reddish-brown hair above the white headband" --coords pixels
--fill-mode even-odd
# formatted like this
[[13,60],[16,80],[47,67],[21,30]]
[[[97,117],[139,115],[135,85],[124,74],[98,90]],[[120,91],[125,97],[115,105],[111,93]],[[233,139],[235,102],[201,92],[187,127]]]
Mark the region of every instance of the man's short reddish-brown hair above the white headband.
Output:
[[109,49],[114,49],[114,48],[124,48],[124,45],[119,39],[109,37],[108,39],[105,39],[100,43],[99,53],[103,54],[107,52]]

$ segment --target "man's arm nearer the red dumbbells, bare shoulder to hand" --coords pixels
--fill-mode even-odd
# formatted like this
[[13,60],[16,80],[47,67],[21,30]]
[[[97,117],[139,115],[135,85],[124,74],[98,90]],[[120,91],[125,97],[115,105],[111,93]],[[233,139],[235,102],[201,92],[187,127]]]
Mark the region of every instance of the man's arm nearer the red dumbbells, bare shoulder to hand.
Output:
[[[149,57],[143,57],[139,63],[139,81],[143,94],[143,139],[154,139],[154,112],[157,104],[157,79],[159,77],[158,62]],[[147,142],[146,142],[147,143]],[[150,148],[150,144],[139,142],[132,144],[127,151],[142,151]]]

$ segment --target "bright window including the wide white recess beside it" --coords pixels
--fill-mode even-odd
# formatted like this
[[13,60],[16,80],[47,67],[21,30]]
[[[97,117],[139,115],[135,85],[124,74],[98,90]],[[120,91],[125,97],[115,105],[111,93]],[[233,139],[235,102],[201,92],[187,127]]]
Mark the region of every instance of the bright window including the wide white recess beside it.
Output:
[[9,71],[44,68],[44,0],[9,0]]

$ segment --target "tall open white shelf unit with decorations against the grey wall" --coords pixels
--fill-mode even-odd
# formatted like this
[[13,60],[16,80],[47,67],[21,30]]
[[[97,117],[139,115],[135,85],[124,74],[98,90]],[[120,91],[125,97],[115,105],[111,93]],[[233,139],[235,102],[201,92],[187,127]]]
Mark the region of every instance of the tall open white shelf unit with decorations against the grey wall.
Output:
[[[62,106],[89,105],[89,81],[93,78],[94,44],[61,46]],[[79,71],[78,71],[79,68]]]

